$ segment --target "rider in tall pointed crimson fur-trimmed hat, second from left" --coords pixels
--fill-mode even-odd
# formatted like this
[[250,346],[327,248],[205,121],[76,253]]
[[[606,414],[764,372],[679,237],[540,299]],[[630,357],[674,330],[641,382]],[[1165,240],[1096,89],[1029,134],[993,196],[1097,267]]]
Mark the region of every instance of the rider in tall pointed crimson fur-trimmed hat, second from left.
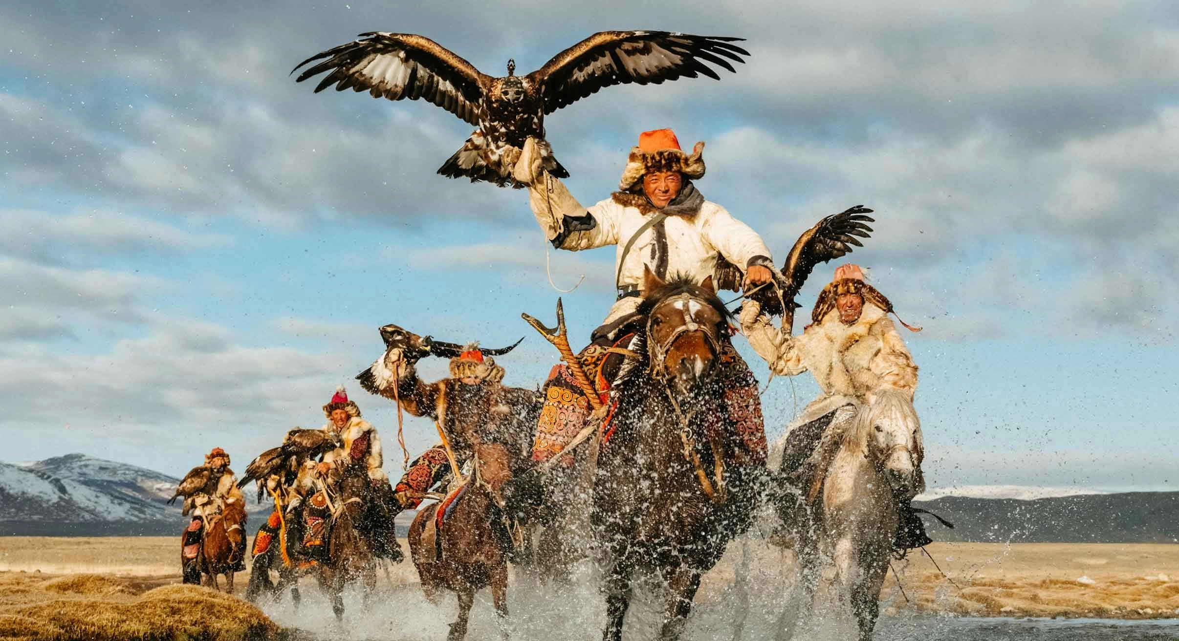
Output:
[[[361,418],[360,408],[356,402],[348,399],[343,385],[336,388],[331,401],[323,407],[323,414],[328,417],[323,430],[336,436],[340,447],[324,454],[318,463],[308,462],[305,467],[310,474],[303,474],[301,470],[297,484],[299,494],[303,495],[302,509],[322,511],[324,505],[318,503],[325,503],[323,497],[325,488],[338,489],[345,475],[367,476],[373,490],[371,502],[367,505],[369,518],[363,526],[365,531],[360,534],[368,540],[375,555],[400,562],[403,554],[393,523],[393,517],[400,509],[389,485],[389,475],[383,469],[381,438],[376,428]],[[325,536],[314,533],[304,533],[304,537],[301,538],[305,540],[308,534],[321,544],[327,543]],[[307,550],[299,549],[299,551]]]

